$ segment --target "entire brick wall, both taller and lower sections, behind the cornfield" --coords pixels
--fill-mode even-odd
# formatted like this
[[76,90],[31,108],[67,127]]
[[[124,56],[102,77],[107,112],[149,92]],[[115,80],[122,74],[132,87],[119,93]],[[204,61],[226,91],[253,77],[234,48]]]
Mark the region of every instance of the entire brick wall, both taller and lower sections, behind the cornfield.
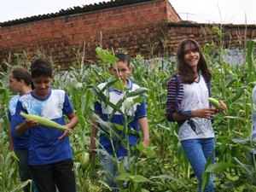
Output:
[[[39,49],[51,55],[56,65],[67,69],[83,48],[86,59],[96,61],[95,48],[100,45],[104,49],[125,48],[131,56],[141,54],[148,58],[166,51],[173,54],[183,38],[195,38],[201,44],[219,41],[212,26],[179,21],[167,0],[155,0],[4,26],[0,28],[0,61],[8,60],[10,55],[15,64],[13,53]],[[247,36],[244,28],[225,26],[225,40],[241,45],[245,37],[255,38],[255,26],[247,26]]]

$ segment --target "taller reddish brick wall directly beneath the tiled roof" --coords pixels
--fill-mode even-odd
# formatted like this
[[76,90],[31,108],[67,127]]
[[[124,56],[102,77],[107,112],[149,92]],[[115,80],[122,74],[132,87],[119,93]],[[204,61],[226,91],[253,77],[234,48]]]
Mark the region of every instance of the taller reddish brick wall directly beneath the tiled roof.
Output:
[[[84,15],[69,15],[0,28],[0,60],[9,53],[40,49],[66,68],[75,59],[74,48],[86,45],[88,59],[95,48],[140,46],[142,38],[153,37],[160,21],[179,21],[166,0],[137,3]],[[153,28],[152,28],[153,26]],[[153,31],[152,31],[153,30]],[[136,45],[137,44],[137,45]]]

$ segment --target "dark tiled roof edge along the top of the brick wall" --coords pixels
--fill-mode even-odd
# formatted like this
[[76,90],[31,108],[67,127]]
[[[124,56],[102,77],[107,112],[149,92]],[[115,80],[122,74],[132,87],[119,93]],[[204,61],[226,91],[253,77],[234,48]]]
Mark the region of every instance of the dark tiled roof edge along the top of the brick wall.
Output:
[[59,12],[51,13],[51,14],[35,15],[35,16],[26,17],[26,18],[17,19],[17,20],[0,22],[0,27],[15,26],[15,25],[33,22],[37,20],[52,19],[55,17],[66,16],[66,15],[83,14],[91,11],[111,9],[119,6],[126,6],[126,5],[136,4],[136,3],[146,3],[146,2],[154,2],[154,1],[156,0],[111,0],[110,2],[94,3],[94,4],[84,5],[82,7],[77,6],[69,9],[61,9]]

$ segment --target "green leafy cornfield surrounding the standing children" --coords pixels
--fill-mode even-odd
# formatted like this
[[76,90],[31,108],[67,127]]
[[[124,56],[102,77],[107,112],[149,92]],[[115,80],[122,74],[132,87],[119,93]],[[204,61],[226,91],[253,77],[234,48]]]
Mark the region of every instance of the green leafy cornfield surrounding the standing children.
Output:
[[[209,172],[214,172],[215,191],[256,191],[256,167],[247,159],[247,153],[255,146],[249,139],[253,108],[251,93],[256,83],[253,41],[247,42],[245,60],[236,66],[223,61],[224,49],[215,44],[206,44],[203,49],[214,74],[212,97],[223,100],[228,107],[226,113],[219,113],[214,120],[216,163],[206,167],[205,180]],[[55,72],[53,82],[54,87],[67,91],[79,117],[79,125],[70,136],[79,192],[108,191],[98,157],[89,160],[87,153],[90,122],[96,118],[92,115],[93,102],[96,96],[101,96],[96,85],[110,77],[108,63],[113,62],[108,51],[97,48],[96,52],[99,57],[97,67],[84,66],[84,55],[78,55],[68,72]],[[16,65],[29,67],[30,55],[16,56]],[[132,64],[131,79],[148,89],[142,91],[147,96],[151,147],[146,149],[138,145],[135,148],[136,163],[130,164],[131,172],[125,173],[119,166],[119,188],[131,192],[196,191],[197,180],[178,142],[177,125],[165,119],[166,83],[175,73],[175,63],[163,58],[152,59],[145,65],[143,57],[137,55]],[[0,191],[9,192],[22,191],[25,183],[20,183],[15,159],[8,151],[7,106],[13,94],[8,89],[7,73],[0,73]],[[118,106],[114,108],[118,110]],[[147,157],[139,157],[140,152]],[[129,181],[129,189],[124,189],[123,180]]]

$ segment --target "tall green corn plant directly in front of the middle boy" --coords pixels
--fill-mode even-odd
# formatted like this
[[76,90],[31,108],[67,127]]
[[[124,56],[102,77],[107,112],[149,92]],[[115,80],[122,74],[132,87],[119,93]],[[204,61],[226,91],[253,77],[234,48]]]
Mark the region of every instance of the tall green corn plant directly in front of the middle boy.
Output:
[[[114,58],[111,54],[109,54],[108,52],[102,51],[101,49],[97,49],[97,53],[98,53],[99,57],[102,59],[102,61],[104,61],[107,64],[114,63],[115,61],[117,61],[116,58]],[[105,67],[105,69],[106,69],[106,67]],[[107,77],[109,77],[109,75]],[[105,90],[108,90],[108,88],[110,86],[113,86],[113,84],[117,84],[119,86],[119,90],[122,90],[123,95],[124,95],[123,98],[115,105],[113,103],[109,102],[108,94],[107,94],[107,96],[105,96],[103,94],[103,92]],[[112,141],[114,139],[117,143],[119,143],[122,146],[124,146],[125,148],[127,148],[127,152],[128,152],[127,156],[128,156],[129,166],[130,166],[130,169],[129,169],[130,172],[125,172],[125,167],[124,167],[123,163],[119,164],[118,158],[117,158],[117,156],[115,156],[116,148],[112,143],[114,156],[111,158],[115,162],[115,165],[117,165],[117,168],[119,170],[119,176],[116,178],[117,181],[119,181],[118,182],[119,188],[123,189],[124,187],[123,187],[122,183],[124,181],[128,181],[129,191],[141,191],[142,187],[141,187],[140,183],[144,183],[145,181],[147,181],[147,178],[145,178],[141,175],[137,175],[136,174],[137,166],[132,165],[132,162],[131,162],[131,152],[130,152],[130,147],[129,147],[130,144],[129,144],[128,136],[132,130],[128,129],[128,123],[131,121],[132,117],[128,116],[128,112],[134,104],[140,103],[143,101],[143,97],[141,97],[141,95],[146,93],[146,91],[148,89],[145,89],[142,87],[137,90],[130,91],[130,90],[125,89],[123,84],[119,83],[119,79],[113,79],[112,81],[108,81],[108,84],[106,84],[106,86],[102,90],[99,90],[97,87],[93,87],[91,90],[97,98],[99,98],[102,102],[105,102],[106,105],[109,105],[109,106],[111,106],[111,108],[113,108],[113,111],[112,111],[112,113],[109,114],[108,119],[112,119],[114,113],[116,113],[116,112],[119,112],[120,115],[122,115],[122,117],[124,118],[124,125],[117,125],[117,124],[113,124],[111,122],[102,121],[102,119],[100,119],[97,115],[93,115],[93,119],[96,122],[98,122],[99,125],[104,127],[104,130],[108,131],[109,135],[107,135],[107,137],[109,138],[110,141]],[[131,100],[132,102],[127,102],[127,98],[129,98],[129,97],[133,98]],[[120,110],[120,108],[122,106],[125,106],[124,111]],[[134,131],[132,131],[132,132],[135,133]],[[122,138],[125,138],[125,140],[122,140]],[[133,148],[133,150],[136,150],[136,148]],[[141,148],[141,150],[143,150],[143,148]],[[145,152],[145,150],[143,150],[143,152]],[[102,152],[102,153],[104,153],[104,152]],[[147,152],[146,152],[146,154],[147,154]],[[136,160],[135,160],[135,162],[136,162]],[[125,190],[125,189],[123,189],[123,190]]]

